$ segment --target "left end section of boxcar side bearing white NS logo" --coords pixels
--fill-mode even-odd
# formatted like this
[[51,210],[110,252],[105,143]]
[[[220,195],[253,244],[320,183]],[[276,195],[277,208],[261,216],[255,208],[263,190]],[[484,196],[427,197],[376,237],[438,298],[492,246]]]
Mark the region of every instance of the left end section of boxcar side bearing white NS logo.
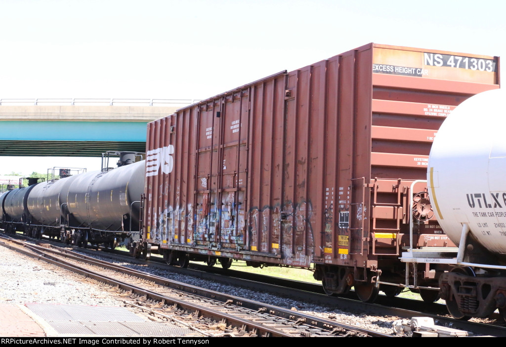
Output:
[[193,242],[195,120],[182,114],[148,124],[143,237],[162,249]]

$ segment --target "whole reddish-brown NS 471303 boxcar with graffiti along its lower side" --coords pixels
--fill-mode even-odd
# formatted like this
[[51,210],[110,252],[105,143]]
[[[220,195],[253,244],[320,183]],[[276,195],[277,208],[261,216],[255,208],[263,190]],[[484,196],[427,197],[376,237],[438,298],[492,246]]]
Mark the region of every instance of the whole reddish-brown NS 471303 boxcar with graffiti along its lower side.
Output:
[[[329,294],[395,294],[403,248],[451,243],[417,180],[446,115],[498,88],[498,64],[370,43],[149,123],[145,255],[314,268]],[[412,289],[437,283],[437,267],[417,270]]]

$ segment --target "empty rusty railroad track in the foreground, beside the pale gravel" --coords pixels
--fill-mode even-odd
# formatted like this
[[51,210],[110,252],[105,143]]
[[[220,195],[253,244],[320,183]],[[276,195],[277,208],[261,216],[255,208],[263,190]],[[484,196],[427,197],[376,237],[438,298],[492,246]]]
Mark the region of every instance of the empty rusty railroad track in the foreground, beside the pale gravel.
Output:
[[125,303],[195,325],[207,336],[223,336],[223,331],[230,336],[390,336],[171,281],[56,246],[5,238],[4,242],[13,250],[106,283]]

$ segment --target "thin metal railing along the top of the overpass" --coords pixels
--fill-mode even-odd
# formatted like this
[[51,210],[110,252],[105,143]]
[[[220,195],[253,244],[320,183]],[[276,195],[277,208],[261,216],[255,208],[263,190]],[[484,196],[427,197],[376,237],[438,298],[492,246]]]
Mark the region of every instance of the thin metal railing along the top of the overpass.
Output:
[[2,99],[0,106],[167,106],[184,107],[198,103],[197,99],[119,99],[119,98],[20,98]]

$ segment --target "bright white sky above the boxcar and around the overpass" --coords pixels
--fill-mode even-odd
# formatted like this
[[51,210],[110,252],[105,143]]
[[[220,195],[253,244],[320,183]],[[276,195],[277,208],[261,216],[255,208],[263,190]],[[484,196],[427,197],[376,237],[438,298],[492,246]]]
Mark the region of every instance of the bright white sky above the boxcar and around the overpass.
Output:
[[[0,0],[0,98],[201,99],[369,42],[506,56],[504,13],[449,0]],[[5,169],[15,162],[0,157],[0,174],[62,166]]]

